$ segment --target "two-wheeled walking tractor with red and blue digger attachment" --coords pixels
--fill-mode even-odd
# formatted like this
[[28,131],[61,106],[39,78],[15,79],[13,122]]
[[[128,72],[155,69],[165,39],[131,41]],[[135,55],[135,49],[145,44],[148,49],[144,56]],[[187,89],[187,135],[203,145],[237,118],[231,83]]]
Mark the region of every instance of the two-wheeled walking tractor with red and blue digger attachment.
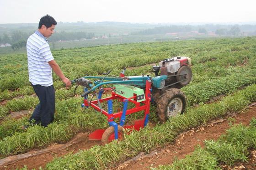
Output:
[[[84,87],[82,107],[93,107],[107,116],[107,129],[97,129],[89,135],[89,139],[101,140],[107,144],[113,139],[122,139],[124,129],[139,130],[149,121],[150,102],[157,104],[157,113],[161,122],[178,113],[183,113],[186,100],[180,88],[186,86],[192,78],[191,59],[189,57],[173,57],[164,59],[159,65],[153,66],[155,77],[125,76],[125,68],[119,76],[111,75],[110,71],[104,77],[85,76],[72,80]],[[159,74],[160,72],[160,74]],[[94,81],[92,82],[91,79]],[[104,88],[103,88],[104,87]],[[110,91],[109,97],[102,94]],[[89,93],[92,95],[88,96]],[[89,99],[90,98],[90,99]],[[121,103],[122,110],[113,113],[113,102]],[[107,104],[104,109],[103,103]],[[129,103],[130,106],[128,107]],[[138,119],[133,125],[125,126],[127,115],[144,112],[143,119]],[[119,118],[119,124],[114,121]]]

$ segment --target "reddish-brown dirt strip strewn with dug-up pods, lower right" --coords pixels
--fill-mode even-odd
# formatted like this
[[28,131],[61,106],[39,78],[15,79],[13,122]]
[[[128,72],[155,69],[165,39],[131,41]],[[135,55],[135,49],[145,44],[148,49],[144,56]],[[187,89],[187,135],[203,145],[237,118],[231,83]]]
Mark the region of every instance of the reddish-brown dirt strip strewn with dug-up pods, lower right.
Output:
[[[238,113],[233,118],[235,124],[242,123],[248,125],[253,117],[256,117],[256,106]],[[192,154],[197,145],[204,147],[204,140],[218,139],[221,134],[225,134],[227,129],[229,129],[229,122],[223,119],[198,129],[192,129],[187,133],[180,134],[174,144],[169,144],[165,148],[153,151],[148,155],[141,154],[137,158],[128,160],[114,169],[149,170],[150,167],[169,165],[175,160],[175,157],[182,159],[186,155]]]

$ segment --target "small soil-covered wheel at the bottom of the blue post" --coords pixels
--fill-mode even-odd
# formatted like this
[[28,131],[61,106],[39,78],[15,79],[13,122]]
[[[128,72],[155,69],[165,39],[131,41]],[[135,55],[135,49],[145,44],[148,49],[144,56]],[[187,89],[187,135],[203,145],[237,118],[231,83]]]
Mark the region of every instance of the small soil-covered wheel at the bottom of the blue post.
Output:
[[[122,140],[124,137],[124,128],[118,125],[118,140]],[[108,127],[102,134],[101,143],[102,145],[108,144],[115,139],[115,130],[113,126]]]

